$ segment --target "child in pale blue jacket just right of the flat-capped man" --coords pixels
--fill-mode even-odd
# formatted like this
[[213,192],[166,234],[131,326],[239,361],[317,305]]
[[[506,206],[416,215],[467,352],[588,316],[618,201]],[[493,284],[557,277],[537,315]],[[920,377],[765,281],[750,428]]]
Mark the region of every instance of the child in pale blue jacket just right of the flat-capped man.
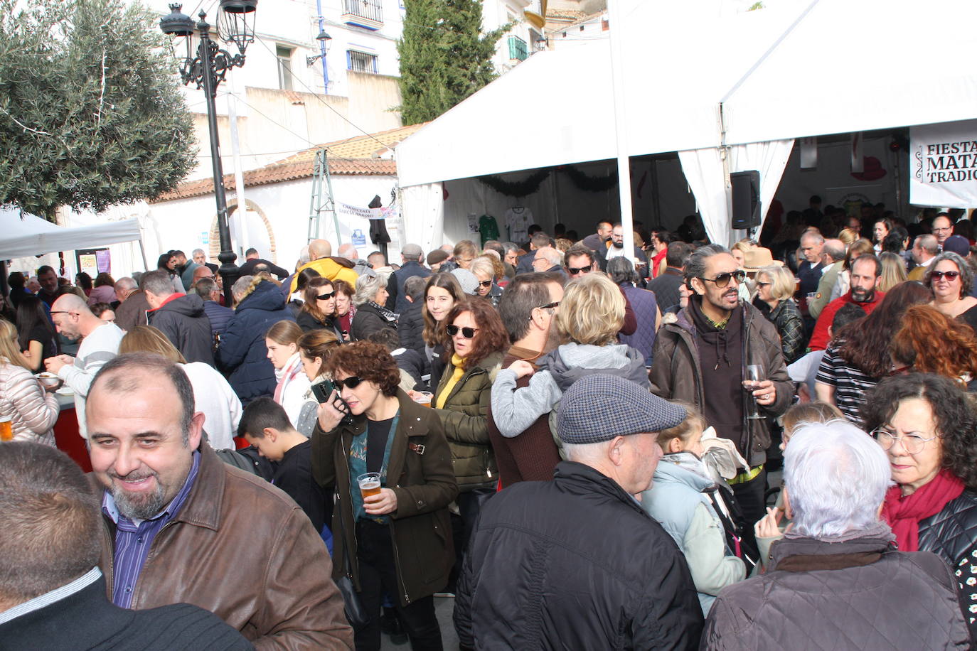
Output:
[[693,405],[680,404],[688,415],[681,425],[658,434],[664,456],[652,487],[641,495],[641,506],[685,554],[702,612],[708,614],[719,590],[743,581],[746,566],[727,544],[733,525],[719,508],[719,487],[702,463],[705,422]]

